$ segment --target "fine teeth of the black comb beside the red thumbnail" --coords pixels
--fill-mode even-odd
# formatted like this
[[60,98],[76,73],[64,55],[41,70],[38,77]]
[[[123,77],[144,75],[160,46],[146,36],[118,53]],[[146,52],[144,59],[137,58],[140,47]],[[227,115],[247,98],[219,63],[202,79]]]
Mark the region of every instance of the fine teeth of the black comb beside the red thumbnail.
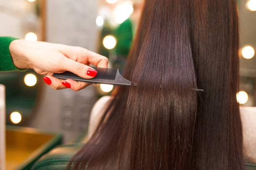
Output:
[[115,80],[115,75],[118,69],[116,68],[100,68],[92,67],[97,71],[95,79],[104,79],[104,80]]

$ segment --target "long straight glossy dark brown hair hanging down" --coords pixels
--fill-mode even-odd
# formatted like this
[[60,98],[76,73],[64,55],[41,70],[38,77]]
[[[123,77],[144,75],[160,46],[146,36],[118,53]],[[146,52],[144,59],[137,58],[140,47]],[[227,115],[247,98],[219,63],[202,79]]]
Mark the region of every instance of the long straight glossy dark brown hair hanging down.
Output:
[[116,88],[74,169],[245,169],[238,61],[236,0],[145,0],[124,73],[138,87]]

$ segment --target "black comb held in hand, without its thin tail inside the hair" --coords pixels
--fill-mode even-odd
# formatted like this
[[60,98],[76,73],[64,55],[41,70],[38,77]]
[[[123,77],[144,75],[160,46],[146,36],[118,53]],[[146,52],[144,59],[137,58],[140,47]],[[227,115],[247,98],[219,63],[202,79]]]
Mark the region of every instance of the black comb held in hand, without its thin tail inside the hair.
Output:
[[66,71],[63,73],[54,73],[53,76],[59,79],[72,79],[76,81],[82,82],[93,82],[93,83],[101,83],[101,84],[110,84],[110,85],[124,85],[124,86],[137,86],[136,83],[130,82],[126,80],[122,75],[120,75],[119,70],[116,68],[100,68],[100,67],[92,67],[97,71],[97,75],[92,79],[85,79],[79,77],[78,75]]

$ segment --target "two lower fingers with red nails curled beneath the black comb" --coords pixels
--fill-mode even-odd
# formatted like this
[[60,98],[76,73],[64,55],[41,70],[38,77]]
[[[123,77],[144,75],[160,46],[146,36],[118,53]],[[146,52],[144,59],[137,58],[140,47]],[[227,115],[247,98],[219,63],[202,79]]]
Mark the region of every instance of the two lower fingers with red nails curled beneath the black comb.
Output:
[[48,84],[51,88],[55,90],[60,90],[64,88],[70,88],[74,91],[81,90],[88,85],[91,85],[92,83],[87,83],[87,82],[77,82],[75,80],[61,80],[56,77],[53,77],[51,75],[47,75],[44,77],[44,82]]

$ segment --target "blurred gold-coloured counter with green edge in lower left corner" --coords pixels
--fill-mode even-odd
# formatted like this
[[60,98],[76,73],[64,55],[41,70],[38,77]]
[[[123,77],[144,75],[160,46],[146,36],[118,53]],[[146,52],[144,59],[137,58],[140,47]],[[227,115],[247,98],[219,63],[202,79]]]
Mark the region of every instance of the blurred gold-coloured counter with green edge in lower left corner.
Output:
[[62,143],[59,133],[6,127],[6,170],[29,170],[44,153]]

